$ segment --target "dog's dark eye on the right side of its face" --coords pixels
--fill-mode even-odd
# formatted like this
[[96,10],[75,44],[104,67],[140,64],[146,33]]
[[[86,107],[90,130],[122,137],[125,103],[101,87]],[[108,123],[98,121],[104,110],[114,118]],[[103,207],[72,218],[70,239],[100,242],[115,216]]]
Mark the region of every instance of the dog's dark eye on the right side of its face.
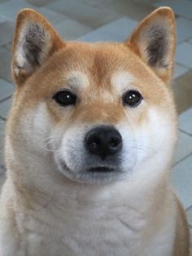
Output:
[[142,101],[142,95],[137,90],[129,90],[123,95],[123,104],[136,107]]

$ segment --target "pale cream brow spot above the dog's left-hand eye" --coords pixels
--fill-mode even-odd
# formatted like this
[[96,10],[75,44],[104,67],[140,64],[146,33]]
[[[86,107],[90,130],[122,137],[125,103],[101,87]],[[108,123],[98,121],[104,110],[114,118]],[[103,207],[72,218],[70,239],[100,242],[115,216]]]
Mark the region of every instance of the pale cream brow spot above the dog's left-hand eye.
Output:
[[80,71],[72,71],[69,72],[65,77],[66,83],[68,86],[76,89],[76,87],[87,87],[89,86],[89,79],[85,75],[85,73],[81,73]]

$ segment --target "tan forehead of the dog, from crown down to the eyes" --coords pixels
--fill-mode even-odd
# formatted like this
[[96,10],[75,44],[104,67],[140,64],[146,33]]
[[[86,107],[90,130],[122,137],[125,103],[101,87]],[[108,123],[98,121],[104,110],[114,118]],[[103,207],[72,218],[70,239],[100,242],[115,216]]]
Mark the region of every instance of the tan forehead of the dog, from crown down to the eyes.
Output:
[[101,96],[109,100],[109,95],[114,100],[129,89],[145,90],[148,95],[149,85],[155,88],[153,91],[161,90],[158,80],[151,68],[121,43],[72,42],[34,73],[27,85],[29,92],[32,86],[38,86],[33,91],[36,99],[67,87],[81,99],[93,101]]

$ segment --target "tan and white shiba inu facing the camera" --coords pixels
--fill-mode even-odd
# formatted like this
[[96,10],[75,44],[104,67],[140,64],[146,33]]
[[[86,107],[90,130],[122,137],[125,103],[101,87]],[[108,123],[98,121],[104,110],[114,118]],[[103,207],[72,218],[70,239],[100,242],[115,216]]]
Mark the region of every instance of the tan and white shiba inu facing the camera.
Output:
[[168,173],[177,140],[169,84],[174,15],[125,42],[65,42],[20,11],[12,45],[1,256],[187,256]]

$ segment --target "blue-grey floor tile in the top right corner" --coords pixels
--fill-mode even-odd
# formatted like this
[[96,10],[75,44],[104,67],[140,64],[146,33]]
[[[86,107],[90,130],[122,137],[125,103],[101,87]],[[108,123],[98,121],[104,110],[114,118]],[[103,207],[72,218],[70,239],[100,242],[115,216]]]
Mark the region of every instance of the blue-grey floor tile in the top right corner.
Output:
[[178,15],[192,19],[192,2],[190,0],[163,0],[155,3],[155,7],[171,7]]

